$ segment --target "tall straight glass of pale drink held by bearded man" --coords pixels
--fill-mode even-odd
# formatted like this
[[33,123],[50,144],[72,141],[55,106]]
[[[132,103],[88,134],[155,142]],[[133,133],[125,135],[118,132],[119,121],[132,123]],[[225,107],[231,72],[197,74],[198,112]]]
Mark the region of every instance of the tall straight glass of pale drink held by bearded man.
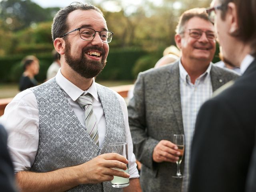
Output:
[[[127,146],[127,143],[124,143],[124,142],[110,143],[109,147],[110,147],[110,152],[118,153],[118,154],[124,156],[128,160],[128,146]],[[119,169],[119,168],[113,168],[113,169],[129,173],[129,165],[128,164],[127,164],[127,169],[126,170],[122,170],[122,169]],[[129,178],[114,176],[114,179],[111,181],[111,183],[112,183],[112,187],[114,187],[114,188],[126,187],[126,186],[129,185]]]

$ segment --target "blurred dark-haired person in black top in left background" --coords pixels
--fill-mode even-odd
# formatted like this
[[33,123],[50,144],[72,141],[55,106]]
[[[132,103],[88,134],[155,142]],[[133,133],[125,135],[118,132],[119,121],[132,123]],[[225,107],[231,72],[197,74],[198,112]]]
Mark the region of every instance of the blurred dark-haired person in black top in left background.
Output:
[[33,55],[26,56],[22,60],[24,72],[20,78],[19,90],[23,91],[38,85],[35,75],[39,73],[39,60]]

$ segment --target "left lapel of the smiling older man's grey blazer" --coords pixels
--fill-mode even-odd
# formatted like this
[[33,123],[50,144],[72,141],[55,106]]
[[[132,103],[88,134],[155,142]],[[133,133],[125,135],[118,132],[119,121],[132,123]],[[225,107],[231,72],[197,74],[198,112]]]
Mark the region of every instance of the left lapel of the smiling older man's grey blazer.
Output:
[[180,70],[179,62],[175,62],[170,65],[170,70],[168,70],[168,75],[166,76],[167,86],[169,88],[170,100],[169,104],[174,110],[176,116],[178,129],[180,133],[184,133],[182,111],[181,111],[181,101],[180,101]]

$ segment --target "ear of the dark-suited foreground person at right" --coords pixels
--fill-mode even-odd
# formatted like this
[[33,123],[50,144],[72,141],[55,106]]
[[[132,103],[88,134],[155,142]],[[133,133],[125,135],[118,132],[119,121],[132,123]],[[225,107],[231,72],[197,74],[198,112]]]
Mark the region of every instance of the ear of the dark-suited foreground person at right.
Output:
[[236,4],[233,2],[228,3],[228,11],[227,11],[227,19],[230,24],[229,33],[235,34],[238,30],[238,18],[237,18],[237,11],[236,11]]

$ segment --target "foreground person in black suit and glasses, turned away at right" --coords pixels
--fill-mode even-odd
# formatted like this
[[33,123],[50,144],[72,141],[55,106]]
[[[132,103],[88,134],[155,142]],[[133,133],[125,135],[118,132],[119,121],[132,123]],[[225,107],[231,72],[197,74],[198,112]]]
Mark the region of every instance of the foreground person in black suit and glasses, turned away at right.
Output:
[[256,130],[256,0],[214,0],[206,11],[224,62],[242,76],[200,108],[189,191],[244,192]]

